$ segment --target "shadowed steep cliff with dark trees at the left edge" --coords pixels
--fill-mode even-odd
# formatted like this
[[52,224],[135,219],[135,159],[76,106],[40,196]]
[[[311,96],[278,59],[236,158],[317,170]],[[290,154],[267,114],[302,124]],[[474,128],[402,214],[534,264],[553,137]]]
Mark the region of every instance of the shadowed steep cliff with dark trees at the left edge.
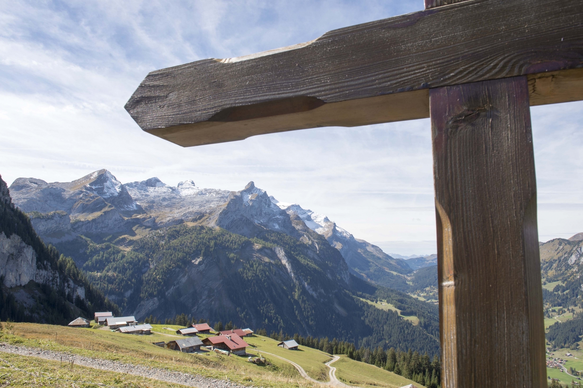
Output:
[[0,319],[68,323],[117,306],[89,283],[71,258],[38,238],[29,218],[12,204],[0,177]]

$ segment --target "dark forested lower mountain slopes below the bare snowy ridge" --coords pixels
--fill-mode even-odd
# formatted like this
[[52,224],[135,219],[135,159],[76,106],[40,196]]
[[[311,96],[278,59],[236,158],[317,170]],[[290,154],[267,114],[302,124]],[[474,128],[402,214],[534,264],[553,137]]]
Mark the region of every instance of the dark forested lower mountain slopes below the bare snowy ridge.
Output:
[[[128,252],[86,243],[87,277],[138,319],[185,313],[371,347],[438,349],[436,306],[354,277],[339,252],[309,229],[300,241],[269,230],[247,238],[177,225],[150,233]],[[355,296],[385,299],[419,324]]]

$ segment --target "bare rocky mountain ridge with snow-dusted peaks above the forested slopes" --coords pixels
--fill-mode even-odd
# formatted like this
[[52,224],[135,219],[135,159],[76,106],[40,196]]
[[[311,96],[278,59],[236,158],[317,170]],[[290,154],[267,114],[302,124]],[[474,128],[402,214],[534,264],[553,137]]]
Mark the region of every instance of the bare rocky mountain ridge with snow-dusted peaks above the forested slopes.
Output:
[[322,214],[278,202],[253,182],[239,192],[201,189],[193,181],[173,187],[158,178],[121,184],[109,171],[99,170],[72,182],[18,178],[10,192],[17,206],[29,213],[38,234],[52,244],[61,243],[65,252],[69,245],[82,243],[80,235],[131,246],[152,230],[182,223],[219,226],[246,237],[273,230],[301,238],[293,218],[305,224],[299,228],[323,235],[356,276],[404,289],[406,274],[412,272],[405,260],[354,238]]

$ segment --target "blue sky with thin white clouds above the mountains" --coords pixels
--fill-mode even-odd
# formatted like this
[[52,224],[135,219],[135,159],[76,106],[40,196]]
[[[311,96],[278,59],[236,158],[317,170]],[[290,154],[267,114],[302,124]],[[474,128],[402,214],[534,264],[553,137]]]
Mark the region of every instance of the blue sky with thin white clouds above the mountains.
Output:
[[[72,181],[249,181],[387,253],[436,253],[429,119],[182,148],[124,104],[152,70],[302,43],[415,12],[415,1],[0,0],[0,175]],[[539,240],[583,231],[583,102],[532,107]]]

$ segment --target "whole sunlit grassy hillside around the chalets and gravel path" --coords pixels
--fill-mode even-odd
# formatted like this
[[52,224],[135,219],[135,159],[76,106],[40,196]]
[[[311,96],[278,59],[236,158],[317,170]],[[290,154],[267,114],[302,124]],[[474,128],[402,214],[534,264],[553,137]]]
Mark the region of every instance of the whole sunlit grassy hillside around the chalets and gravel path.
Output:
[[[43,350],[54,350],[70,352],[72,354],[83,355],[97,359],[108,359],[118,362],[144,365],[152,368],[166,368],[170,371],[198,373],[217,379],[229,378],[230,381],[241,385],[254,385],[262,387],[315,387],[300,376],[296,369],[282,359],[271,357],[265,352],[279,355],[290,359],[304,368],[304,370],[314,379],[322,382],[328,381],[328,368],[324,365],[331,359],[331,355],[314,350],[308,347],[300,347],[300,351],[290,351],[279,348],[278,341],[268,337],[254,336],[246,337],[250,344],[247,348],[248,354],[262,354],[268,359],[267,366],[251,364],[247,357],[231,355],[226,357],[215,352],[205,352],[205,354],[185,354],[167,350],[153,345],[156,341],[169,341],[175,338],[174,331],[164,330],[163,327],[178,329],[180,326],[153,325],[154,331],[164,334],[151,334],[149,336],[134,336],[131,334],[115,333],[110,330],[100,329],[80,329],[64,326],[54,326],[48,324],[17,323],[12,329],[13,334],[4,330],[0,332],[0,342],[24,345],[27,347],[40,348]],[[0,352],[0,358],[5,359],[13,365],[26,367],[31,372],[46,372],[51,376],[69,376],[71,379],[85,379],[85,381],[102,382],[112,386],[131,386],[128,383],[140,383],[142,378],[124,375],[123,373],[111,373],[96,371],[90,368],[75,366],[74,368],[63,369],[61,366],[51,361],[31,358],[30,362],[26,357],[9,355]],[[347,357],[342,357],[333,364],[338,368],[336,374],[339,378],[345,379],[350,385],[359,386],[382,386],[388,388],[401,387],[413,382],[395,375],[395,373],[384,371],[373,365],[354,361]],[[22,369],[22,368],[21,368]],[[10,379],[24,379],[26,373],[16,373]],[[3,381],[8,382],[3,375]],[[2,376],[0,376],[2,378]],[[47,379],[47,381],[50,379]],[[165,383],[146,381],[146,386],[166,387]],[[350,383],[352,380],[354,383]],[[356,382],[359,383],[356,383]],[[48,384],[47,384],[48,385]],[[16,386],[18,386],[16,384]],[[26,385],[23,385],[26,386]],[[58,386],[58,385],[57,385]],[[143,386],[143,385],[142,385]]]

